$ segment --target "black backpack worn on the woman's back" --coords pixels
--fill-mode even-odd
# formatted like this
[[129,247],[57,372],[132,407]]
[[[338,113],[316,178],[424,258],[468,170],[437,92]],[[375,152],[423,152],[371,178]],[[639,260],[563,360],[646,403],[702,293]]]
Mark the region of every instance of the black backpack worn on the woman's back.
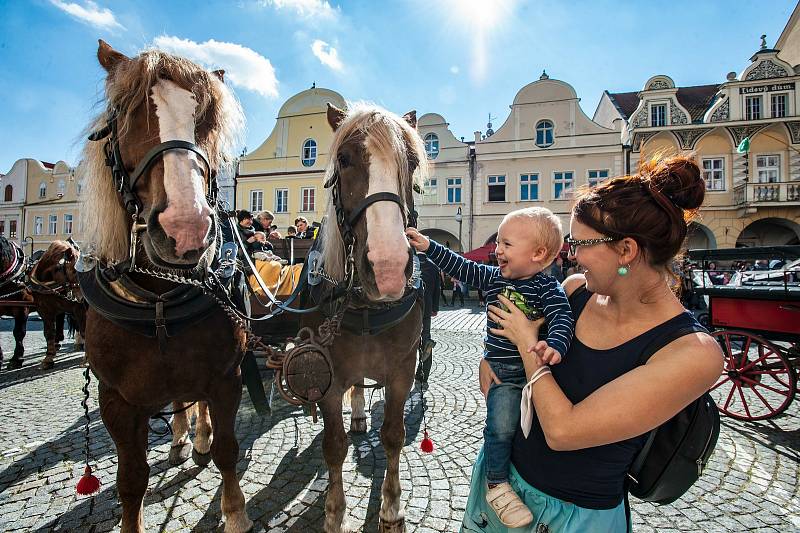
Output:
[[[675,339],[697,332],[706,330],[699,325],[687,326],[656,338],[642,353],[639,364],[645,364]],[[674,502],[703,473],[718,437],[719,411],[706,392],[650,432],[628,471],[628,491],[647,502]],[[627,492],[625,504],[628,511]]]

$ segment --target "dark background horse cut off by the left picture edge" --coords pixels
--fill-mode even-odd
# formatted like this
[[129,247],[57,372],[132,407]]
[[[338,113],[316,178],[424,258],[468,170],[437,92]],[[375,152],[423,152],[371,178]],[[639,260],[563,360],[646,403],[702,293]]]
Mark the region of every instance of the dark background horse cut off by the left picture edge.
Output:
[[[28,313],[33,305],[33,297],[24,283],[26,269],[22,248],[0,235],[0,316],[14,319],[14,355],[8,361],[8,368],[22,368],[25,356],[22,341],[28,329]],[[2,361],[3,349],[0,348]]]

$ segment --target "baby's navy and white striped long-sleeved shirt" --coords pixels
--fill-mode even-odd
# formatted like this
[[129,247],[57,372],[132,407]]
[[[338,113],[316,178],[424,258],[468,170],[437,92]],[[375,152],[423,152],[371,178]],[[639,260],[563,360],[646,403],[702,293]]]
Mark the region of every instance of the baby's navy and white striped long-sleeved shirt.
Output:
[[[561,284],[542,272],[528,279],[505,279],[500,275],[500,267],[480,265],[448,250],[431,239],[431,246],[426,251],[428,259],[447,274],[466,283],[470,287],[480,289],[486,294],[486,305],[500,305],[497,295],[506,286],[514,287],[525,297],[528,305],[540,309],[547,325],[547,345],[558,350],[563,357],[572,342],[575,332],[575,320]],[[517,347],[506,339],[489,331],[498,325],[486,318],[486,338],[484,357],[488,360],[504,363],[521,363],[522,358]]]

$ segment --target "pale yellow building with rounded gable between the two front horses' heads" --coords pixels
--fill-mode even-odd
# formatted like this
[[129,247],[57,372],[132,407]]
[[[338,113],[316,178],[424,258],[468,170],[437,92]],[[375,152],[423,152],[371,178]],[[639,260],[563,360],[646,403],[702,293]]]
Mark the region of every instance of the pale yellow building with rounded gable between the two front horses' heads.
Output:
[[322,180],[333,140],[326,115],[328,102],[345,107],[339,93],[318,87],[283,104],[267,140],[239,161],[237,209],[254,214],[272,211],[283,234],[298,216],[309,223],[322,220],[326,197]]

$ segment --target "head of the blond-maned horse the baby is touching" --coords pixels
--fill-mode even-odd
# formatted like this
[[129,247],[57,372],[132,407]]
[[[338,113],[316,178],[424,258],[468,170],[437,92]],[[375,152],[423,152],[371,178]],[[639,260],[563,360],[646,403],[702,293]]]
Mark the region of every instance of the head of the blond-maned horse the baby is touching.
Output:
[[331,189],[325,268],[341,272],[351,256],[367,299],[397,300],[413,272],[405,227],[414,187],[427,172],[416,113],[399,117],[365,104],[345,113],[328,104],[328,123],[335,133],[325,180]]

